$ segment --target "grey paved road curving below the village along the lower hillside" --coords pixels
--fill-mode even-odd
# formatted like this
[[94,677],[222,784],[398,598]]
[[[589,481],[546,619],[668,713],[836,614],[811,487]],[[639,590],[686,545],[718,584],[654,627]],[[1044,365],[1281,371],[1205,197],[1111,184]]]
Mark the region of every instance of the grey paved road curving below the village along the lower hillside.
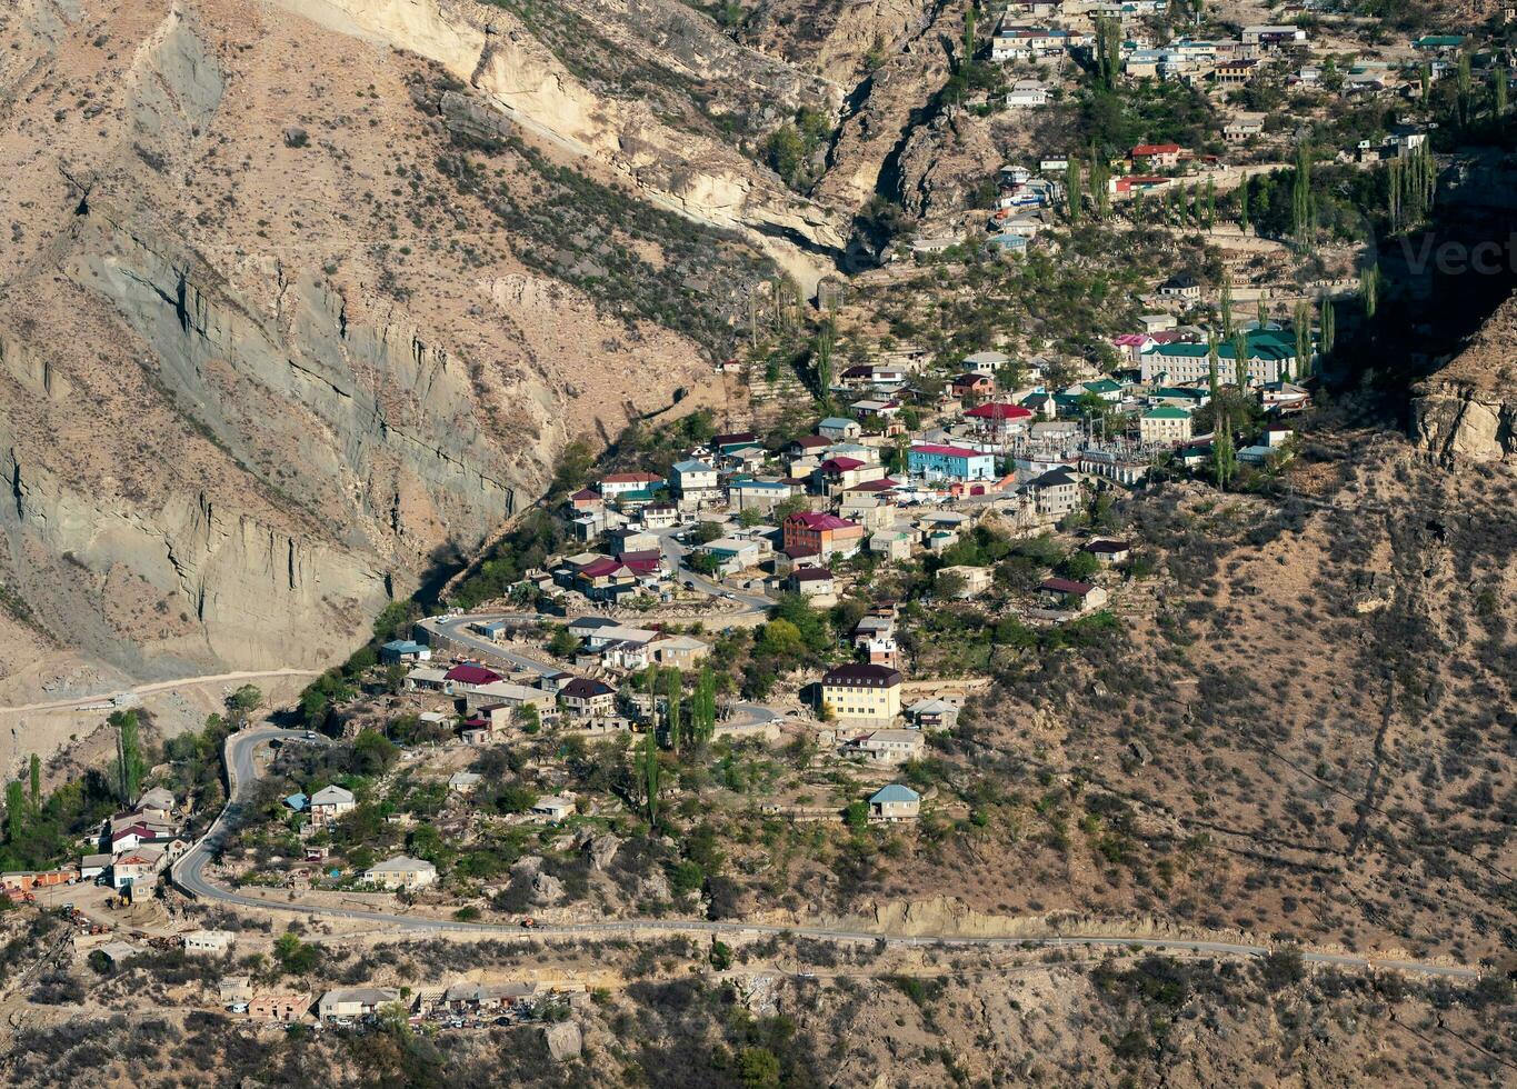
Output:
[[[360,909],[338,909],[322,904],[311,904],[288,899],[261,899],[240,892],[223,889],[205,877],[205,865],[215,846],[223,840],[228,827],[237,819],[241,805],[252,796],[256,786],[258,769],[253,763],[253,751],[275,737],[300,737],[299,731],[275,730],[259,727],[234,734],[226,742],[228,775],[231,778],[231,799],[226,811],[188,854],[173,868],[174,883],[197,899],[232,904],[237,907],[258,907],[272,912],[291,912],[297,915],[313,915],[347,922],[373,922],[397,933],[475,933],[479,936],[499,937],[616,937],[627,934],[711,934],[718,937],[763,937],[792,934],[810,937],[822,942],[886,942],[895,946],[945,946],[945,948],[1042,948],[1042,949],[1076,949],[1076,948],[1139,948],[1154,951],[1197,952],[1217,957],[1262,957],[1273,951],[1267,945],[1247,945],[1241,942],[1204,942],[1179,937],[1145,937],[1126,934],[1059,934],[1045,937],[957,937],[934,934],[895,936],[880,934],[869,930],[846,930],[831,927],[774,927],[748,925],[739,922],[707,922],[704,919],[625,919],[607,922],[583,922],[558,927],[537,927],[536,930],[520,930],[498,924],[454,922],[451,919],[425,919],[414,915],[399,915],[393,912],[366,912]],[[1459,968],[1453,965],[1434,965],[1408,960],[1384,960],[1377,957],[1361,957],[1347,952],[1302,952],[1302,959],[1309,965],[1330,965],[1338,968],[1376,968],[1417,975],[1432,975],[1455,980],[1479,978],[1479,969]]]

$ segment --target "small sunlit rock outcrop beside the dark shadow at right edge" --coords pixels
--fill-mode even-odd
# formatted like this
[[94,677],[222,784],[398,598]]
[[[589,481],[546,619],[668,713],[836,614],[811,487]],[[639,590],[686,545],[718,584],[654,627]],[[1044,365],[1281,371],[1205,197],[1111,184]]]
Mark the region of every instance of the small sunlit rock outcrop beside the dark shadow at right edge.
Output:
[[1517,297],[1412,391],[1412,437],[1444,460],[1517,457]]

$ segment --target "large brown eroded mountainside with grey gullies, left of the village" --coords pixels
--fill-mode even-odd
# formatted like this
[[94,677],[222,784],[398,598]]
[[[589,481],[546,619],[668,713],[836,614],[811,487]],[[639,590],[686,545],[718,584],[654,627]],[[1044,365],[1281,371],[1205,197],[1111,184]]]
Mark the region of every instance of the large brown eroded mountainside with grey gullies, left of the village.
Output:
[[0,605],[36,640],[0,663],[331,663],[569,437],[710,382],[438,173],[507,129],[466,91],[419,111],[426,62],[253,0],[85,15],[0,15]]

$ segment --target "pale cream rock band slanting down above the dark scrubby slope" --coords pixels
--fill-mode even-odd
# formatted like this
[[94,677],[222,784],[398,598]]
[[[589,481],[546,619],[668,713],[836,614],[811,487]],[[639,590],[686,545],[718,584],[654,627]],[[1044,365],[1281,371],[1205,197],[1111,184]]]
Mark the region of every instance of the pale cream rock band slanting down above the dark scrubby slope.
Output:
[[[848,241],[848,217],[786,190],[766,170],[721,140],[675,127],[645,97],[619,96],[608,74],[596,80],[586,64],[570,71],[567,46],[576,26],[593,27],[605,50],[620,50],[614,74],[705,80],[719,96],[769,97],[780,109],[801,102],[836,108],[840,89],[807,80],[716,33],[677,0],[572,3],[581,23],[529,27],[511,3],[470,0],[279,0],[290,11],[344,33],[382,41],[441,64],[523,129],[573,155],[592,158],[631,182],[639,196],[699,223],[743,231],[802,282],[815,285]],[[536,30],[536,33],[534,33]],[[564,53],[564,56],[560,56]],[[627,56],[655,55],[642,73]],[[637,89],[636,86],[627,89]],[[724,111],[727,109],[724,103]]]

